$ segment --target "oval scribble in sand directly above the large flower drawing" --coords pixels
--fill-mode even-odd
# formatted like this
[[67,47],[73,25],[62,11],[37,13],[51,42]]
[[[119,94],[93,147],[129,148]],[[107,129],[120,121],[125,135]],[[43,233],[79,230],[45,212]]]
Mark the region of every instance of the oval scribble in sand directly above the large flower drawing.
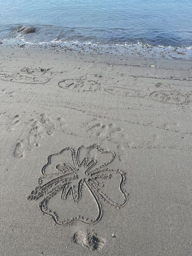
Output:
[[100,83],[87,79],[64,79],[58,85],[60,88],[77,92],[95,92],[100,89]]

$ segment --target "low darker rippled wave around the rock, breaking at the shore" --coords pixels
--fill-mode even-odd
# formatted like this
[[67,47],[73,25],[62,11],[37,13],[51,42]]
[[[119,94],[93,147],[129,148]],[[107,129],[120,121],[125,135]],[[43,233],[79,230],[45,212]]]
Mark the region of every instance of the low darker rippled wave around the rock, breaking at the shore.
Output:
[[[192,38],[158,30],[137,32],[131,28],[60,27],[53,25],[25,24],[36,29],[36,33],[18,34],[23,24],[0,26],[0,38],[17,38],[30,43],[77,42],[100,45],[149,44],[162,47],[192,47]],[[188,38],[188,39],[184,39]]]

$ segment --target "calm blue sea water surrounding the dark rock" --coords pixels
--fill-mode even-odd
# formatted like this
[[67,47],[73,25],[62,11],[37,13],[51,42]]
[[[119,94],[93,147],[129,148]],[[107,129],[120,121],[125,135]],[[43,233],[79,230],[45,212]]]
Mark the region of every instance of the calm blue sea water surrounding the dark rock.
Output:
[[[192,46],[192,0],[0,0],[0,39]],[[17,27],[35,26],[21,35]]]

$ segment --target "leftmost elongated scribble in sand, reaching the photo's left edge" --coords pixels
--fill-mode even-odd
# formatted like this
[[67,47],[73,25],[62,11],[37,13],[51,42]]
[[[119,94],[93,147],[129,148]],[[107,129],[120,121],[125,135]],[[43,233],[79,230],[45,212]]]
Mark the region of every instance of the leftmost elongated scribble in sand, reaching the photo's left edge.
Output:
[[49,78],[42,77],[38,74],[22,74],[22,73],[7,73],[0,71],[0,80],[11,81],[13,83],[25,83],[25,84],[41,84],[49,82]]

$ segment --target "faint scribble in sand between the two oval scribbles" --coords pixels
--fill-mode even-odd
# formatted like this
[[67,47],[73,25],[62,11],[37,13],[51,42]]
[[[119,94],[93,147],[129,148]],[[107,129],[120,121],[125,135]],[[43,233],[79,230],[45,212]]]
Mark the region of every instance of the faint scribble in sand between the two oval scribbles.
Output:
[[111,94],[116,94],[116,95],[122,95],[126,97],[145,97],[147,94],[143,91],[137,91],[137,90],[132,90],[128,88],[123,88],[123,87],[117,87],[117,86],[109,86],[104,89],[105,92],[111,93]]

